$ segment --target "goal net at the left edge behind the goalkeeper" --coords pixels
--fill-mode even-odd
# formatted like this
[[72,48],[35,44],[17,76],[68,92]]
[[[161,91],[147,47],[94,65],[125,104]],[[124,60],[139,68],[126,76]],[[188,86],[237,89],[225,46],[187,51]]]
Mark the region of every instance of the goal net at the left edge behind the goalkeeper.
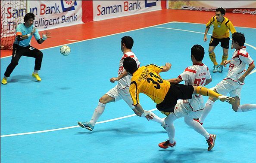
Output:
[[1,50],[12,49],[16,27],[24,22],[27,0],[1,0]]

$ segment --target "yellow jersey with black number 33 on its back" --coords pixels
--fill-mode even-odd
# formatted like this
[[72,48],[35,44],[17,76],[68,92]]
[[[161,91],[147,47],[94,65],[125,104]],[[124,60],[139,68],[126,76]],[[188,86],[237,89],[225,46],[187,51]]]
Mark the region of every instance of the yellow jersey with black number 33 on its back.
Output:
[[150,97],[154,103],[161,103],[170,88],[170,82],[162,80],[159,75],[162,66],[150,64],[137,69],[131,77],[130,94],[133,105],[140,103],[140,92]]

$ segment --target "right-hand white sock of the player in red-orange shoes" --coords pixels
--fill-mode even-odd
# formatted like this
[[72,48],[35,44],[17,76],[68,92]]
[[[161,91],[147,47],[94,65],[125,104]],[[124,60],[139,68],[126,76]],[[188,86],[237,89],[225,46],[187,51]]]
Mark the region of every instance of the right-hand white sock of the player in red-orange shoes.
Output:
[[188,117],[185,117],[184,120],[188,126],[192,127],[195,131],[197,131],[197,133],[200,133],[202,136],[204,136],[206,140],[209,139],[210,134],[205,130],[205,128],[200,123]]

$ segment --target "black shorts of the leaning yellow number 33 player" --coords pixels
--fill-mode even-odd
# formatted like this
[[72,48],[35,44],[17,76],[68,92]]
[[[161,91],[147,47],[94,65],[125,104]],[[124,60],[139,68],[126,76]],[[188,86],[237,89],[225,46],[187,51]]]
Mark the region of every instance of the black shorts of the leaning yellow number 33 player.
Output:
[[192,85],[171,84],[169,91],[165,95],[162,103],[156,105],[156,108],[161,112],[174,112],[174,107],[177,100],[187,100],[192,98],[194,87]]

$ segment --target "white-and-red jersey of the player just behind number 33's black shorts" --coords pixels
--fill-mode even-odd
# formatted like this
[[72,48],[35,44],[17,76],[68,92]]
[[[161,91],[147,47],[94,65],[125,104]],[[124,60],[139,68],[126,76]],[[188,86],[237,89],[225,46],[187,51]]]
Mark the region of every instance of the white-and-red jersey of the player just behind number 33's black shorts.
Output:
[[[204,86],[207,79],[211,78],[208,67],[203,63],[197,63],[187,67],[181,75],[179,75],[186,85]],[[201,110],[204,107],[203,97],[200,94],[194,94],[192,99],[186,100],[190,103],[192,111]]]

